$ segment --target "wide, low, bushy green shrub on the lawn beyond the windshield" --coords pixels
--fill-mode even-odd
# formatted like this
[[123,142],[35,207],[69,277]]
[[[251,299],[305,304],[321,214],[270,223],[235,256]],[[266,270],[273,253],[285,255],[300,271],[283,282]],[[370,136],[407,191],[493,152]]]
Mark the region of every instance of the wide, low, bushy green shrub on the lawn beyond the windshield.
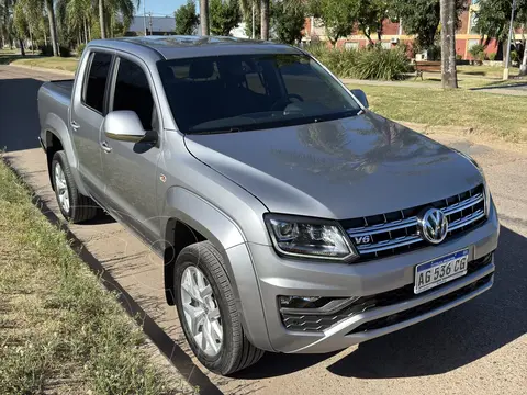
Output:
[[340,78],[394,80],[410,71],[404,48],[334,49],[323,44],[305,48]]

